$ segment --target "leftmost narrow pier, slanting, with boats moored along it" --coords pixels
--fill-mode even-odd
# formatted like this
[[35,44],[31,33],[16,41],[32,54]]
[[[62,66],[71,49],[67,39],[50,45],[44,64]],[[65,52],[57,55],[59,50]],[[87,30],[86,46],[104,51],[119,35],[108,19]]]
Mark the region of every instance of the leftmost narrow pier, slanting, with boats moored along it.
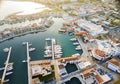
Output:
[[7,72],[7,67],[9,65],[9,59],[10,59],[10,55],[11,55],[11,50],[12,50],[12,47],[9,48],[8,57],[7,57],[7,60],[5,62],[5,69],[3,71],[3,75],[2,75],[2,79],[1,79],[1,84],[4,84],[5,75],[6,75],[6,72]]

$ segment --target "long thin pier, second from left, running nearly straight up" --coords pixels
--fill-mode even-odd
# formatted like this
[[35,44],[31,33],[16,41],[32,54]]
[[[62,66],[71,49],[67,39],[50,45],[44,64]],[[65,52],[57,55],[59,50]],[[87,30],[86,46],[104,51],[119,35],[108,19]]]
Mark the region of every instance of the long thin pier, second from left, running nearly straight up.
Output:
[[31,76],[31,71],[30,71],[30,55],[29,55],[29,43],[26,43],[27,46],[27,68],[28,68],[28,84],[32,84],[32,76]]

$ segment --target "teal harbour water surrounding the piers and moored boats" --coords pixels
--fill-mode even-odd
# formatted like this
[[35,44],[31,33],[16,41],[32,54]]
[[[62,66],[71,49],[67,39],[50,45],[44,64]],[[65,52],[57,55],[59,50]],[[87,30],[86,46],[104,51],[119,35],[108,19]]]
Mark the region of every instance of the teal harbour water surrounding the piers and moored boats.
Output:
[[[10,84],[11,83],[16,84],[17,80],[20,80],[19,82],[22,82],[23,84],[27,83],[27,74],[26,74],[27,70],[20,71],[19,73],[17,72],[20,69],[20,67],[23,67],[24,69],[26,69],[26,65],[24,65],[24,63],[23,63],[23,62],[26,63],[26,60],[25,60],[26,55],[24,54],[26,49],[24,46],[22,46],[23,44],[25,45],[26,42],[32,43],[32,46],[34,46],[36,48],[36,50],[34,52],[30,53],[31,60],[44,59],[45,39],[48,37],[55,38],[57,40],[57,42],[62,46],[62,51],[63,51],[62,56],[63,57],[71,56],[73,53],[80,53],[80,54],[82,53],[82,51],[76,51],[75,46],[72,44],[71,41],[69,41],[69,39],[73,38],[72,36],[62,35],[62,34],[57,33],[57,29],[59,29],[59,27],[62,25],[61,23],[63,22],[63,20],[61,18],[53,18],[53,20],[56,23],[50,29],[48,29],[48,31],[46,31],[44,33],[39,32],[36,34],[28,34],[25,36],[16,37],[14,39],[5,41],[4,43],[0,44],[0,46],[1,46],[0,57],[2,58],[2,59],[0,59],[1,63],[3,63],[3,60],[4,60],[3,55],[5,55],[5,53],[3,53],[3,49],[8,46],[12,46],[14,49],[14,51],[12,53],[13,57],[11,58],[11,60],[13,60],[13,62],[14,62],[15,69],[13,69],[14,73],[10,77],[10,81],[9,81]],[[58,23],[59,23],[59,25],[58,25]],[[53,32],[54,32],[54,34],[53,34]],[[44,36],[44,37],[42,37],[42,36]],[[31,37],[35,40],[31,40]],[[63,38],[63,37],[65,37],[65,38]],[[21,43],[23,43],[23,44],[21,45]],[[39,46],[38,46],[38,44],[39,44]],[[66,44],[68,44],[69,46],[67,46]],[[49,48],[49,47],[46,47],[46,48]],[[69,53],[67,53],[67,52],[69,52]],[[23,60],[25,60],[25,61],[23,61]],[[19,67],[18,67],[18,65],[19,65]],[[2,65],[1,65],[1,67],[2,67]],[[22,74],[25,74],[25,75],[23,76]],[[14,75],[16,75],[17,77],[15,77],[15,79],[13,80],[12,78],[14,77]],[[22,77],[22,78],[20,78],[20,77]]]

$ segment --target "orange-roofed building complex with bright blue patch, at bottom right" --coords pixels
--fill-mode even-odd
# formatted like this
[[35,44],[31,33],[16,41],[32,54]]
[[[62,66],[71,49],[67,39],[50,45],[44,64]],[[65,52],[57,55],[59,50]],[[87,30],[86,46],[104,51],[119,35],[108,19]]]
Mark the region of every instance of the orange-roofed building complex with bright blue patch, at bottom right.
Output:
[[89,68],[81,72],[82,80],[86,84],[104,84],[111,80],[101,68]]

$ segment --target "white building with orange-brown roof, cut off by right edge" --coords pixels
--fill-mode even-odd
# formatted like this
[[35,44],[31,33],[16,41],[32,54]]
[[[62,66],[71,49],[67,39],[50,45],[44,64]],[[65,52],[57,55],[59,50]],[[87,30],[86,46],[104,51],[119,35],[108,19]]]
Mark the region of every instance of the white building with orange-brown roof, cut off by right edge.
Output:
[[114,72],[120,73],[120,61],[115,58],[108,60],[107,68],[113,70]]

